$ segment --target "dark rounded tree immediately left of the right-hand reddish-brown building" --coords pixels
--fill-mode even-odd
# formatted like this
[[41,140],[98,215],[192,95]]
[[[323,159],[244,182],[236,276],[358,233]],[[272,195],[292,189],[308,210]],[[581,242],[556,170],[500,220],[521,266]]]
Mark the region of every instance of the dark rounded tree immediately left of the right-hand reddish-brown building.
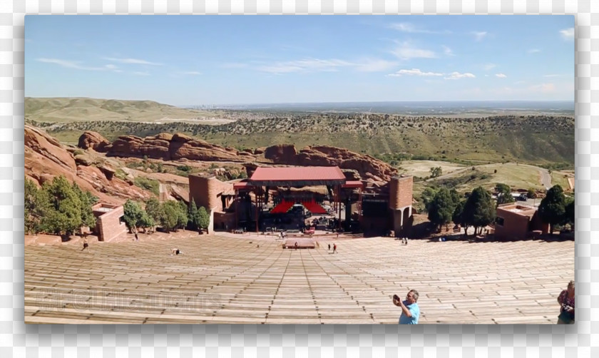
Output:
[[464,204],[461,220],[466,225],[474,227],[474,235],[478,235],[482,228],[495,220],[495,205],[491,199],[491,193],[482,187],[472,190],[469,198]]

